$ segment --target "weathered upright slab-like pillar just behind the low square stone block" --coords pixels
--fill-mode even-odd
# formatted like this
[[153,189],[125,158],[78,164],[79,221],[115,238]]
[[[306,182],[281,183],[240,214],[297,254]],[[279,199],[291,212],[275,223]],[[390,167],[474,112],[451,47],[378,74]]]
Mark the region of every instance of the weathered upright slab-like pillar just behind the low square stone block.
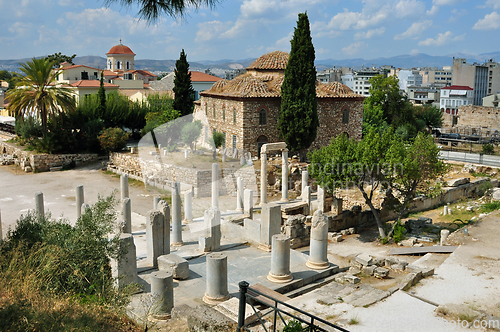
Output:
[[[164,219],[159,210],[148,212],[146,222],[146,249],[148,264],[153,267],[158,266],[158,256],[164,254]],[[170,248],[168,248],[170,250]]]

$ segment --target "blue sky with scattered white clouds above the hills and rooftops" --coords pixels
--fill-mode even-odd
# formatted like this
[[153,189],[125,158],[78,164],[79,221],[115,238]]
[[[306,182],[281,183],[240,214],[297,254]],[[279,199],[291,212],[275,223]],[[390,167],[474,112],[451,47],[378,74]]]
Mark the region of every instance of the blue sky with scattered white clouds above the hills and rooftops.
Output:
[[136,59],[257,58],[289,52],[306,11],[317,60],[500,50],[500,0],[226,0],[152,24],[120,1],[0,0],[0,59],[105,57],[120,39]]

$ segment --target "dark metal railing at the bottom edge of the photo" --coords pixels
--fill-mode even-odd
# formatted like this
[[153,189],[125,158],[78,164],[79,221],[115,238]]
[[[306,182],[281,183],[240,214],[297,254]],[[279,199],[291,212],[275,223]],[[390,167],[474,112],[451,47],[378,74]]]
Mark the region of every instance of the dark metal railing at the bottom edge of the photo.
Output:
[[[331,328],[333,328],[333,329],[338,330],[338,331],[349,332],[348,330],[343,329],[340,326],[332,324],[332,323],[330,323],[324,319],[321,319],[317,316],[311,315],[311,314],[309,314],[309,313],[307,313],[307,312],[305,312],[297,307],[294,307],[290,304],[284,303],[284,302],[277,300],[269,295],[263,294],[256,289],[250,288],[248,282],[246,282],[246,281],[241,281],[238,285],[240,287],[240,302],[239,302],[239,308],[238,308],[237,332],[251,331],[249,329],[249,326],[254,325],[255,323],[260,323],[260,325],[264,328],[264,331],[266,331],[266,332],[269,332],[269,331],[276,332],[277,323],[279,322],[278,318],[281,320],[283,325],[287,324],[287,321],[285,320],[284,316],[288,316],[288,317],[292,318],[292,320],[295,320],[295,321],[298,321],[302,324],[305,324],[306,326],[302,328],[302,331],[308,331],[308,332],[325,331],[326,332],[326,331],[330,331]],[[249,291],[250,291],[250,293],[249,293]],[[253,295],[253,294],[256,294],[256,295]],[[267,299],[268,301],[264,302],[262,299],[259,299],[256,296],[261,296],[261,297]],[[249,301],[249,300],[253,300],[253,301]],[[270,306],[270,303],[273,303],[273,304],[270,306],[271,310],[269,312],[262,313],[262,312],[259,312],[255,308],[255,306],[253,304],[254,301],[260,302],[260,303],[265,304],[267,306]],[[246,314],[245,310],[246,310],[247,302],[252,307],[252,310],[254,311],[256,318],[245,323],[245,314]],[[290,312],[288,312],[287,309],[290,310]],[[294,315],[291,312],[298,312],[302,317]],[[269,314],[273,315],[273,317],[272,317],[272,330],[271,329],[268,330],[268,328],[266,327],[266,324],[265,324],[265,321],[266,321],[265,316],[267,316]],[[305,318],[303,318],[303,317],[305,317]],[[324,327],[319,326],[319,324],[321,324]],[[325,329],[325,327],[328,327],[330,329],[327,330],[327,329]]]

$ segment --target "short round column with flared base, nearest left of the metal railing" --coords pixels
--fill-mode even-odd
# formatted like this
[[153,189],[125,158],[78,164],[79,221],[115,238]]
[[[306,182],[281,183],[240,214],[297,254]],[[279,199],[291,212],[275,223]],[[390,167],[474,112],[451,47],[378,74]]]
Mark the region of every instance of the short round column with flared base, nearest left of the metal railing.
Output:
[[213,252],[207,258],[207,290],[203,301],[210,305],[229,299],[227,290],[227,255]]

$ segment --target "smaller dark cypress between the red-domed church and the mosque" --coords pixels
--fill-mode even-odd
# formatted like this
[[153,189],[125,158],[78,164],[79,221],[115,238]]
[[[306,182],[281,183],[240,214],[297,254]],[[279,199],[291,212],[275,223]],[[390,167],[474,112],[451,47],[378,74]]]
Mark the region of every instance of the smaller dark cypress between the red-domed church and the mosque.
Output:
[[181,116],[193,113],[194,89],[191,84],[191,73],[184,49],[179,60],[175,62],[174,78],[174,109],[181,113]]

